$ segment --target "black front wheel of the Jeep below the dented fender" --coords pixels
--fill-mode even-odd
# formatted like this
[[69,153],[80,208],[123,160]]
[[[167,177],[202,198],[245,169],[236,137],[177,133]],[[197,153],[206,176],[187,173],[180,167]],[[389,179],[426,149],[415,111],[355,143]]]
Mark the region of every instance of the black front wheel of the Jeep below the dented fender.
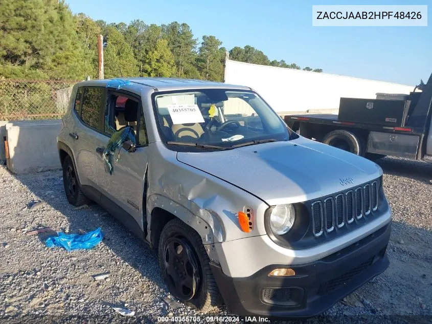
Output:
[[179,219],[162,230],[158,247],[162,278],[170,293],[201,312],[222,304],[209,256],[198,233]]

